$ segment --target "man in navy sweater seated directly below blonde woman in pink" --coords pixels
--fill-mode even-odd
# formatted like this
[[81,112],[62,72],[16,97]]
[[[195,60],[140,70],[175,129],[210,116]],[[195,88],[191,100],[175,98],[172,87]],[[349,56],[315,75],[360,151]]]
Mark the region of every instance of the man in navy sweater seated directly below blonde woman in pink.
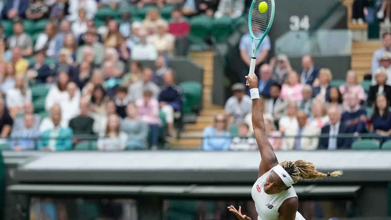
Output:
[[347,97],[349,110],[344,112],[341,117],[341,123],[352,128],[353,133],[363,133],[365,122],[367,120],[366,111],[361,108],[357,94],[350,93]]

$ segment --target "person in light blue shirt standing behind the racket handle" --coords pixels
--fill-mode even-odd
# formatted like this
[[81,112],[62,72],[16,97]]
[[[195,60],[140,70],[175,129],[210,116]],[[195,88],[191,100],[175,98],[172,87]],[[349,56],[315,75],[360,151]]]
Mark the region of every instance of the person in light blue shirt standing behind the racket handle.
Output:
[[[259,40],[254,40],[254,43],[255,46],[257,46]],[[250,33],[244,34],[242,36],[242,38],[240,39],[239,49],[240,49],[240,58],[242,58],[242,60],[246,64],[246,67],[243,69],[242,75],[239,75],[239,78],[242,81],[242,83],[246,83],[246,78],[244,77],[248,75],[251,57],[253,56],[253,44],[251,41]],[[256,54],[255,73],[258,72],[260,65],[262,63],[265,63],[267,55],[269,54],[269,50],[270,50],[270,38],[268,35],[266,35]]]

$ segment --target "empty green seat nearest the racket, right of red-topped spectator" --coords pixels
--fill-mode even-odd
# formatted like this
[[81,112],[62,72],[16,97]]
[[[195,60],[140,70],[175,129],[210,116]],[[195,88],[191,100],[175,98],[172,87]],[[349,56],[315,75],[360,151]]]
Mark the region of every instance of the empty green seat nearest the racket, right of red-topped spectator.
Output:
[[212,36],[217,43],[227,41],[227,38],[232,34],[232,23],[234,23],[234,20],[229,16],[223,16],[213,21]]

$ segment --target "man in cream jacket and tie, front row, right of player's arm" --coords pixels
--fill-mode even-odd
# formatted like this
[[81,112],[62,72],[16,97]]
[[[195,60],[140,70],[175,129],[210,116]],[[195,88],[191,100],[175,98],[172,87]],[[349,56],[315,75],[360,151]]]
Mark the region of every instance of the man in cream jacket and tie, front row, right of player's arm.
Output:
[[[296,115],[298,127],[287,128],[284,138],[282,141],[282,150],[316,150],[319,139],[317,137],[321,132],[320,128],[307,124],[307,113],[300,111]],[[289,137],[290,136],[290,137]],[[293,138],[293,137],[296,138]],[[308,136],[308,137],[301,137]]]

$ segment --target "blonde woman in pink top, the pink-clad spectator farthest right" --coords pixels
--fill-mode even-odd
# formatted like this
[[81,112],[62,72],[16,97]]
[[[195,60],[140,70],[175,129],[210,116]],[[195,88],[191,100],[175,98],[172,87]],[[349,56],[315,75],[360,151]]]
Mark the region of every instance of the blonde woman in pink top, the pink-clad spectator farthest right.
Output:
[[348,108],[346,99],[349,93],[356,94],[357,98],[360,100],[360,104],[366,100],[364,88],[362,88],[362,85],[359,84],[356,72],[353,70],[349,70],[346,73],[346,84],[339,86],[339,92],[342,94],[343,105],[346,108]]

